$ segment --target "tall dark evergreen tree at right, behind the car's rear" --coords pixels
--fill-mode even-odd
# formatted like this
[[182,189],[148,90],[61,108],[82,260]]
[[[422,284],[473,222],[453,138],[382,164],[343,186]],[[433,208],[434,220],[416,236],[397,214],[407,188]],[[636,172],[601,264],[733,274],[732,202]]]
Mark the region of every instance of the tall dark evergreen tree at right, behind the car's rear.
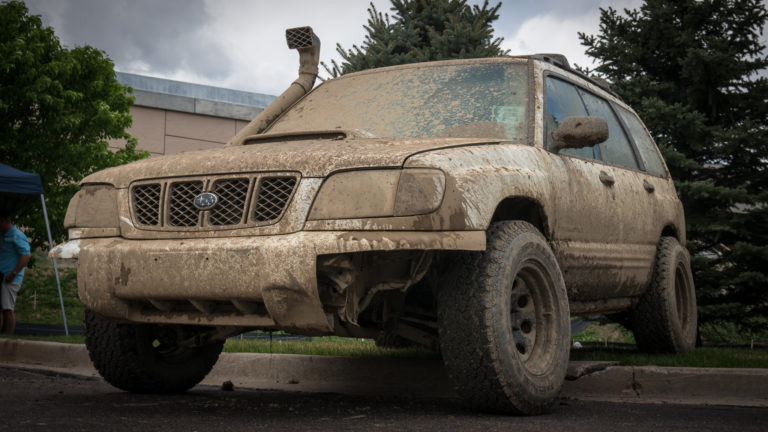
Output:
[[768,331],[768,79],[757,0],[646,0],[579,34],[653,134],[686,211],[700,321]]

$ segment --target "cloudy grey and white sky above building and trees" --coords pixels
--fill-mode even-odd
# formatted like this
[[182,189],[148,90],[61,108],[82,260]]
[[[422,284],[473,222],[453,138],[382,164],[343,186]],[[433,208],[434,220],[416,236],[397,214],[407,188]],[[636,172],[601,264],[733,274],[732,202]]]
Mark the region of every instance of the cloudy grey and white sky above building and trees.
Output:
[[[271,95],[296,78],[298,54],[285,29],[309,25],[321,60],[339,61],[336,44],[362,43],[366,0],[26,0],[68,47],[104,50],[115,69]],[[388,12],[389,0],[372,2]],[[470,3],[482,3],[470,1]],[[495,4],[495,1],[491,1]],[[596,34],[600,8],[641,0],[506,0],[495,35],[510,54],[562,53],[590,66],[577,32]],[[327,77],[321,67],[321,77]]]

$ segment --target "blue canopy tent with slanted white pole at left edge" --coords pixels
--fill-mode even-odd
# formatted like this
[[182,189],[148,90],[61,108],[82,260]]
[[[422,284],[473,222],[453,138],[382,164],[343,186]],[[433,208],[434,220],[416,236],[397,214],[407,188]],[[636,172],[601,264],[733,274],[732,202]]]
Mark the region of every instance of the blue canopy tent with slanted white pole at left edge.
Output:
[[[2,203],[0,204],[11,208],[19,208],[34,200],[36,196],[40,196],[40,202],[43,204],[45,229],[48,232],[48,247],[53,247],[51,226],[48,223],[48,210],[45,207],[45,195],[43,194],[43,184],[40,181],[39,174],[24,172],[0,163],[0,196],[2,197]],[[56,275],[56,288],[59,290],[59,303],[61,304],[61,317],[64,319],[64,332],[69,336],[67,315],[64,313],[64,298],[61,295],[59,268],[56,265],[56,258],[51,258],[51,261],[53,261],[53,271]]]

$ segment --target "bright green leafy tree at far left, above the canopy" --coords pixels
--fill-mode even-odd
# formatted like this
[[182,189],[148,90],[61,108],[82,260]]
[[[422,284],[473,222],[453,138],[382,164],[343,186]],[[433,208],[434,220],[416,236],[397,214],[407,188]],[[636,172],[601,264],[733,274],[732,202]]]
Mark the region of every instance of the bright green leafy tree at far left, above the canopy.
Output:
[[[67,204],[84,176],[148,154],[136,152],[133,98],[102,51],[67,49],[24,3],[0,4],[0,154],[3,163],[43,180],[54,240],[65,236]],[[111,152],[108,140],[128,140]],[[18,223],[33,246],[47,242],[41,211],[25,209]]]

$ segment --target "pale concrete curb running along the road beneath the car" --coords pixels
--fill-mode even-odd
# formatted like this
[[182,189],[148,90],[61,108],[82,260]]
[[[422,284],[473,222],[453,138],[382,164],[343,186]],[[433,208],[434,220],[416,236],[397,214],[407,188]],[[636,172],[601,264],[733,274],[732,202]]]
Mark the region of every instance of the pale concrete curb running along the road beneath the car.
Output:
[[[97,377],[84,345],[0,339],[0,365]],[[457,397],[440,361],[224,353],[204,385],[359,395]],[[768,407],[768,369],[571,362],[561,394],[579,400]]]

